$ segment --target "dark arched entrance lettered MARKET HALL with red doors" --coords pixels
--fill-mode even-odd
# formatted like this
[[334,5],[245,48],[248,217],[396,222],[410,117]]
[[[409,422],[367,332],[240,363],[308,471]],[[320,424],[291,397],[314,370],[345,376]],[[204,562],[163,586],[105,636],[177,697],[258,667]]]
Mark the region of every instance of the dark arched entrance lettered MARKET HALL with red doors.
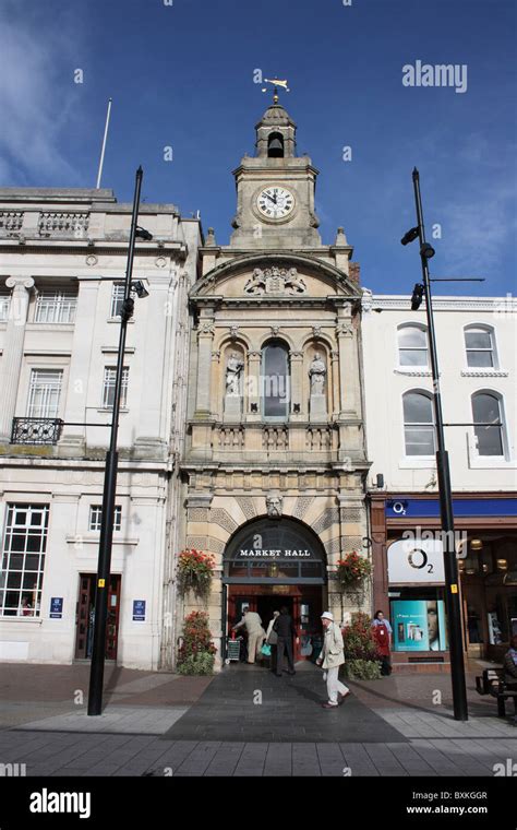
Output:
[[326,559],[310,527],[291,518],[255,519],[243,525],[226,547],[223,584],[223,630],[228,636],[247,607],[256,610],[267,628],[273,612],[286,605],[298,635],[296,660],[314,659],[322,639]]

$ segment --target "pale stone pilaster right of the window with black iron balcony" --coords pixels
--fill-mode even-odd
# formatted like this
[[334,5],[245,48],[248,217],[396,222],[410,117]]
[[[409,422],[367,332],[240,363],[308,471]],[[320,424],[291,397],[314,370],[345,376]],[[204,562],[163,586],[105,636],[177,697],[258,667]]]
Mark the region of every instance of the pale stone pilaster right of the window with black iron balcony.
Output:
[[[77,309],[72,341],[72,357],[70,361],[70,378],[64,406],[64,420],[77,424],[87,420],[86,405],[88,379],[92,366],[92,346],[94,342],[95,321],[97,318],[97,298],[100,280],[82,280],[79,286]],[[94,435],[107,430],[97,429]],[[103,435],[98,436],[100,439]],[[59,453],[82,455],[85,444],[85,428],[77,426],[63,427],[59,442]]]

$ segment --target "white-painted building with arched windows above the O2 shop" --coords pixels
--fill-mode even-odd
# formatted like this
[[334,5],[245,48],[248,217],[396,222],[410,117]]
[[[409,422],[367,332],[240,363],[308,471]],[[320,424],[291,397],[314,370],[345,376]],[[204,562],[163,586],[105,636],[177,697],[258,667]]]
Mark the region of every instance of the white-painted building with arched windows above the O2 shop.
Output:
[[[374,605],[396,660],[446,665],[425,309],[368,290],[362,307]],[[498,659],[517,631],[517,301],[436,297],[433,309],[465,650]]]

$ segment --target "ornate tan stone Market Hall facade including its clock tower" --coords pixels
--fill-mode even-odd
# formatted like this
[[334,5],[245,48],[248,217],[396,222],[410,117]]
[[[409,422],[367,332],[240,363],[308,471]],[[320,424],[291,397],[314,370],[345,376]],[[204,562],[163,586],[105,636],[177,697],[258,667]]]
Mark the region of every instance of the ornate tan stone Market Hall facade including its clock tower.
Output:
[[[317,170],[296,152],[296,124],[275,99],[256,126],[256,153],[233,171],[228,246],[212,229],[193,315],[184,546],[211,553],[208,601],[218,662],[245,607],[264,622],[287,604],[297,655],[363,607],[337,590],[339,558],[368,556],[359,266],[342,228],[322,244]],[[183,615],[199,607],[188,595]],[[314,643],[313,643],[314,644]]]

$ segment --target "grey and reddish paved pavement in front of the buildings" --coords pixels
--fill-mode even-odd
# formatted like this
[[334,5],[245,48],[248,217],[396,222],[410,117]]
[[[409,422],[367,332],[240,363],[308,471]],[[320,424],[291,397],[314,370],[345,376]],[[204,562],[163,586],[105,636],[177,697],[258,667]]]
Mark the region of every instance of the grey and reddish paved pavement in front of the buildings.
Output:
[[326,712],[321,674],[308,665],[293,678],[240,665],[215,678],[108,665],[98,718],[86,715],[87,678],[87,665],[2,665],[0,767],[26,764],[28,776],[469,779],[517,763],[517,727],[476,695],[473,676],[467,723],[453,718],[446,675],[350,683],[352,696]]

